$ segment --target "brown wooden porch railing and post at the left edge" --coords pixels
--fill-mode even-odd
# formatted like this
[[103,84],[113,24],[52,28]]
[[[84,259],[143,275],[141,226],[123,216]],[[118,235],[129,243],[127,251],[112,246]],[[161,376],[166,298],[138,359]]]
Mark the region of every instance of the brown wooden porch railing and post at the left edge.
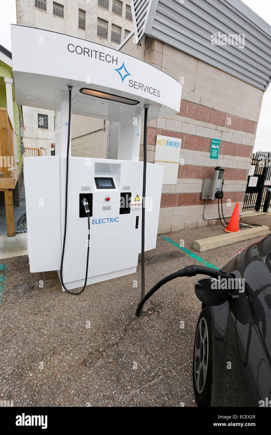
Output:
[[0,107],[0,191],[5,195],[8,236],[15,235],[12,190],[18,176],[19,170],[14,167],[13,127],[7,109]]

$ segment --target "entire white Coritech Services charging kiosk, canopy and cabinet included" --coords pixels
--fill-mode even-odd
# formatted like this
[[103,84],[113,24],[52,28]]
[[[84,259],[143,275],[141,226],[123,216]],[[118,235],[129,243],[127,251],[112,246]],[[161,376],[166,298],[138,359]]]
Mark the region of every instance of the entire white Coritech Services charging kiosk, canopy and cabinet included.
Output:
[[[178,113],[181,84],[142,60],[62,33],[12,25],[11,38],[17,104],[56,111],[55,156],[24,159],[30,271],[60,270],[72,86],[73,114],[118,121],[120,128],[117,160],[69,157],[63,281],[67,289],[84,284],[82,195],[91,211],[87,284],[134,273],[141,252],[144,105],[148,120]],[[156,247],[162,164],[147,163],[145,251]]]

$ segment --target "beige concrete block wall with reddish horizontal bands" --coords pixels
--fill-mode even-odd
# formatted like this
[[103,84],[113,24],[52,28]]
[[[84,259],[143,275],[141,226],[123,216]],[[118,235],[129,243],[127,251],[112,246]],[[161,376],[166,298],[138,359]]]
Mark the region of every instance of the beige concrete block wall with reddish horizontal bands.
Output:
[[[207,201],[205,221],[201,200],[202,182],[216,166],[225,168],[224,215],[237,202],[241,213],[263,91],[153,38],[145,37],[141,58],[142,50],[143,60],[183,85],[180,112],[148,122],[148,161],[154,162],[157,135],[182,140],[177,183],[163,185],[158,233],[217,224],[217,201]],[[121,51],[137,57],[131,38]],[[212,137],[221,139],[218,160],[209,158]]]

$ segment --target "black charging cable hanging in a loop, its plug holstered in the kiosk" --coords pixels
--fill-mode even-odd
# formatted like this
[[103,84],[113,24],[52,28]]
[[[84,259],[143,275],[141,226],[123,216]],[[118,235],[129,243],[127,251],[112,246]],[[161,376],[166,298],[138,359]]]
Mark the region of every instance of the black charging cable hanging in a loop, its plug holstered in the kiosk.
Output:
[[87,285],[87,271],[88,271],[88,259],[89,259],[89,251],[90,251],[90,210],[88,207],[88,202],[85,197],[82,198],[82,204],[85,207],[86,216],[87,216],[87,224],[88,224],[88,239],[87,239],[87,266],[86,266],[86,276],[84,287],[82,290],[77,293],[74,291],[68,290],[63,282],[63,260],[64,260],[64,252],[65,252],[65,242],[66,242],[66,231],[67,231],[67,204],[68,204],[68,178],[69,178],[69,149],[70,149],[70,118],[71,118],[71,90],[72,86],[68,86],[69,90],[69,120],[68,120],[68,142],[67,142],[67,160],[66,160],[66,189],[65,189],[65,223],[64,223],[64,237],[63,237],[63,248],[61,254],[61,265],[60,265],[60,282],[64,290],[66,290],[70,294],[80,294],[83,293],[84,289]]

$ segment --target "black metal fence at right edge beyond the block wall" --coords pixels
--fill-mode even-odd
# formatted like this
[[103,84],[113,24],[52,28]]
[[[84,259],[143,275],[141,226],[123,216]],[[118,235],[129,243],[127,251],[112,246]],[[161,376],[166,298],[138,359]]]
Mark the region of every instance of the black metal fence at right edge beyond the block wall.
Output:
[[[270,181],[270,183],[268,183]],[[260,211],[268,195],[271,184],[271,152],[258,152],[253,154],[248,184],[244,195],[245,210]]]

